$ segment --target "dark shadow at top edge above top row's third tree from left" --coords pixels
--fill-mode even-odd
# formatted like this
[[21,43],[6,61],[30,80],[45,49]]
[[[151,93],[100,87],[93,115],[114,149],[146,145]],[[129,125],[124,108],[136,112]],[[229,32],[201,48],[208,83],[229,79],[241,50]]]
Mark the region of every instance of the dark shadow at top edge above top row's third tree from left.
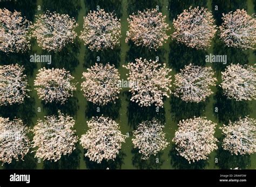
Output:
[[86,15],[90,10],[104,9],[106,12],[114,12],[117,18],[122,17],[122,2],[120,0],[84,0]]

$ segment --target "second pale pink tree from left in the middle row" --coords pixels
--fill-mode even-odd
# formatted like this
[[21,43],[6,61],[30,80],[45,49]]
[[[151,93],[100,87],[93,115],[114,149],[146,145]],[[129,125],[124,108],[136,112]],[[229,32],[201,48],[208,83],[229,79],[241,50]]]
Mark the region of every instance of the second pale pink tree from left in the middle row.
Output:
[[38,70],[36,75],[35,86],[39,98],[45,103],[60,102],[64,104],[65,101],[73,96],[73,91],[76,90],[75,83],[71,83],[73,76],[65,69],[45,69]]

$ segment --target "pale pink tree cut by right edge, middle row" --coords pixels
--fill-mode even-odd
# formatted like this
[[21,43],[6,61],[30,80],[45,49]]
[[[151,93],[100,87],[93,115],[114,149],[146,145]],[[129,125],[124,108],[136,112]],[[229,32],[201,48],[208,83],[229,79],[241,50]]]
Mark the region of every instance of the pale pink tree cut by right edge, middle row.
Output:
[[256,99],[256,65],[231,64],[221,72],[223,82],[220,87],[224,94],[235,100]]

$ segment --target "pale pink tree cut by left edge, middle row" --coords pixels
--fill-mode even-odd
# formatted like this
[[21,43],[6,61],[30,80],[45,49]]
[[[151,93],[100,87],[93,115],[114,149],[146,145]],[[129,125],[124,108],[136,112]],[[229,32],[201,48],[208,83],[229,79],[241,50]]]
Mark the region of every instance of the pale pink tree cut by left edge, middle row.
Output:
[[23,103],[24,98],[29,97],[23,70],[18,64],[0,66],[0,105]]

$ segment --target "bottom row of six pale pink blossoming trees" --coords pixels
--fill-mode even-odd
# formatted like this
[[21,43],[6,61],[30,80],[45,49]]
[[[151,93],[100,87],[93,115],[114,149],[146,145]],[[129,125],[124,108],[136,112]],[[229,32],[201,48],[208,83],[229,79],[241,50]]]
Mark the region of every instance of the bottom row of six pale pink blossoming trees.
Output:
[[[75,120],[58,111],[57,116],[39,119],[32,132],[33,140],[28,138],[29,128],[22,120],[0,117],[0,161],[11,163],[23,159],[30,148],[35,148],[35,157],[58,161],[62,155],[71,154],[76,148],[78,136],[73,126]],[[89,130],[80,138],[86,149],[85,156],[100,163],[114,160],[125,142],[126,135],[119,130],[119,124],[109,117],[92,117],[87,121]],[[205,117],[194,117],[179,121],[173,142],[180,156],[189,163],[207,159],[217,149],[218,140],[214,138],[217,124]],[[141,159],[149,159],[167,147],[169,142],[163,131],[164,125],[152,119],[140,123],[133,131],[132,143],[139,150]],[[224,135],[222,147],[235,155],[256,153],[256,120],[245,117],[220,127]]]

